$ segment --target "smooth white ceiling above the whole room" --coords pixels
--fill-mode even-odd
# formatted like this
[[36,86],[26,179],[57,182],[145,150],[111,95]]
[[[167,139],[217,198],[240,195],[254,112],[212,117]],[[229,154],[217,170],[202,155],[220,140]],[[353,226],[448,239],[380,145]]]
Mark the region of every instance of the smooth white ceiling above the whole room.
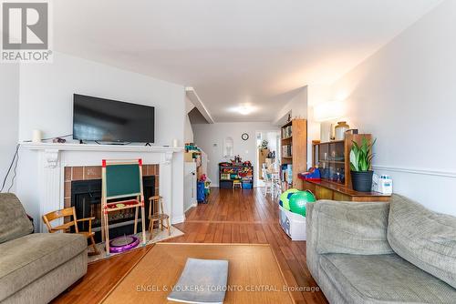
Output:
[[[216,122],[271,121],[440,0],[54,1],[57,51],[193,86]],[[232,112],[250,104],[248,116]]]

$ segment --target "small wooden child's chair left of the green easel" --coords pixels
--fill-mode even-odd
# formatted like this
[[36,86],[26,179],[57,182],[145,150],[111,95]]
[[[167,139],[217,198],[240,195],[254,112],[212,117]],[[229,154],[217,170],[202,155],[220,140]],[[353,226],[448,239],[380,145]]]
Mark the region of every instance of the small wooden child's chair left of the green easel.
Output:
[[[64,218],[64,217],[72,217],[72,220],[59,226],[52,227],[51,221],[57,218]],[[53,212],[49,212],[43,216],[43,220],[47,226],[47,230],[49,233],[54,233],[57,231],[69,232],[71,227],[75,228],[76,233],[84,235],[86,238],[90,238],[90,242],[92,243],[93,252],[88,252],[89,256],[97,256],[99,254],[97,245],[95,243],[95,239],[93,238],[95,232],[92,232],[92,220],[95,218],[76,218],[76,209],[74,207],[65,208]],[[88,231],[79,231],[78,229],[78,222],[88,220]]]

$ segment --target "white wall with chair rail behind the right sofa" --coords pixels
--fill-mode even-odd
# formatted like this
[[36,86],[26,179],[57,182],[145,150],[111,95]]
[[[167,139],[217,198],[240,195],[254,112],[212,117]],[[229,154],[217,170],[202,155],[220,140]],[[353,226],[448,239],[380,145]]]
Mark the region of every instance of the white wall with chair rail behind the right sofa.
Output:
[[[456,1],[447,0],[333,86],[350,127],[378,138],[394,191],[456,215]],[[312,138],[311,138],[312,139]]]

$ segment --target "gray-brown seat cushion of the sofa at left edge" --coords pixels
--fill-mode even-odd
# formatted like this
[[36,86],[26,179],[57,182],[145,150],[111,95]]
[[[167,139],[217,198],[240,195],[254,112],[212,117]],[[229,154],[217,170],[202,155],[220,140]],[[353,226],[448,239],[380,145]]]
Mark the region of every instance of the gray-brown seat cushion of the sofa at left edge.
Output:
[[0,244],[0,301],[87,249],[87,238],[36,233]]

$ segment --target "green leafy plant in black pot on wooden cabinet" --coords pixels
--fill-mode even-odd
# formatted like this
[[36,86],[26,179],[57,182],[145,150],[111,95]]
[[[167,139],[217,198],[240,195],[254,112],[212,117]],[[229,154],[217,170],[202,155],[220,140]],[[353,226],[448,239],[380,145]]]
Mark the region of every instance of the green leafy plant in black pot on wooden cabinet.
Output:
[[[377,140],[377,139],[376,139]],[[372,175],[374,172],[370,169],[372,163],[372,144],[368,143],[368,139],[363,137],[361,145],[353,141],[353,146],[350,151],[350,170],[351,182],[353,189],[360,192],[370,192],[372,188]]]

